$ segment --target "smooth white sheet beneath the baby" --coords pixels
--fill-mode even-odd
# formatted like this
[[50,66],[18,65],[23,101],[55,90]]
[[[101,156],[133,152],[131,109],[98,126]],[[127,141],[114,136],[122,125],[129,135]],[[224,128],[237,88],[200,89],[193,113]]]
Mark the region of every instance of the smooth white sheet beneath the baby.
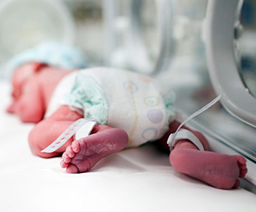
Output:
[[173,170],[154,145],[123,150],[84,174],[66,174],[60,158],[30,153],[33,124],[7,114],[0,82],[0,211],[255,211],[244,189],[218,190]]

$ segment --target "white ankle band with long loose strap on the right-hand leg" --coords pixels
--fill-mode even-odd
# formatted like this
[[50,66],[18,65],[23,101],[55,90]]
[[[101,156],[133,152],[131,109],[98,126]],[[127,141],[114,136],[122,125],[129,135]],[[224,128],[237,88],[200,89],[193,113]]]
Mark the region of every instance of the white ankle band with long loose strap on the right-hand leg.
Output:
[[209,109],[212,105],[217,103],[220,100],[221,96],[222,95],[220,94],[214,100],[212,100],[210,103],[207,103],[206,106],[202,107],[202,109],[199,109],[198,111],[194,112],[194,114],[191,114],[191,116],[189,116],[187,119],[185,119],[178,126],[178,129],[176,130],[176,132],[170,134],[170,136],[168,137],[168,140],[167,140],[170,150],[173,150],[176,143],[178,143],[178,140],[181,140],[181,139],[188,139],[191,141],[191,143],[196,145],[199,150],[204,150],[204,147],[203,147],[202,143],[199,141],[199,139],[192,132],[190,132],[189,130],[186,130],[186,129],[181,129],[181,127],[186,122],[189,122],[190,119],[194,118],[194,116],[201,114],[202,112]]

